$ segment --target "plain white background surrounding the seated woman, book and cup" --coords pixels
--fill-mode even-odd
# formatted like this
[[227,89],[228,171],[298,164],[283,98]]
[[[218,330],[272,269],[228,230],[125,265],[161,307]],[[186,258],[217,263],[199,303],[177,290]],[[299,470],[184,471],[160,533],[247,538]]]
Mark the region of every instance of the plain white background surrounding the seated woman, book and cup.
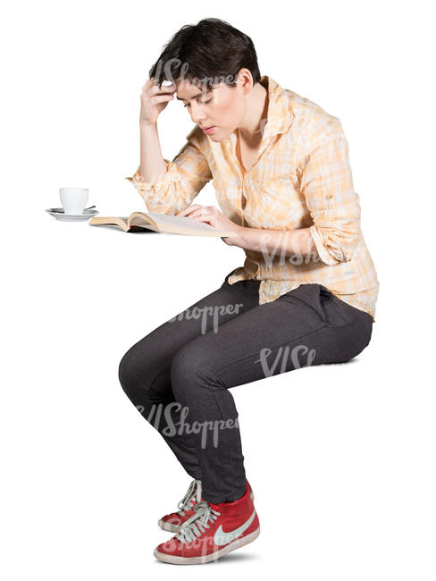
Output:
[[[148,4],[2,9],[2,577],[434,579],[434,77],[430,4]],[[221,285],[220,239],[60,223],[58,189],[100,215],[143,210],[139,96],[164,44],[214,16],[253,39],[262,74],[340,118],[380,282],[351,363],[232,390],[262,533],[207,566],[155,560],[189,476],[127,399],[130,346]],[[171,103],[166,158],[193,127]],[[216,204],[211,183],[200,204]],[[205,567],[207,567],[205,569]]]

